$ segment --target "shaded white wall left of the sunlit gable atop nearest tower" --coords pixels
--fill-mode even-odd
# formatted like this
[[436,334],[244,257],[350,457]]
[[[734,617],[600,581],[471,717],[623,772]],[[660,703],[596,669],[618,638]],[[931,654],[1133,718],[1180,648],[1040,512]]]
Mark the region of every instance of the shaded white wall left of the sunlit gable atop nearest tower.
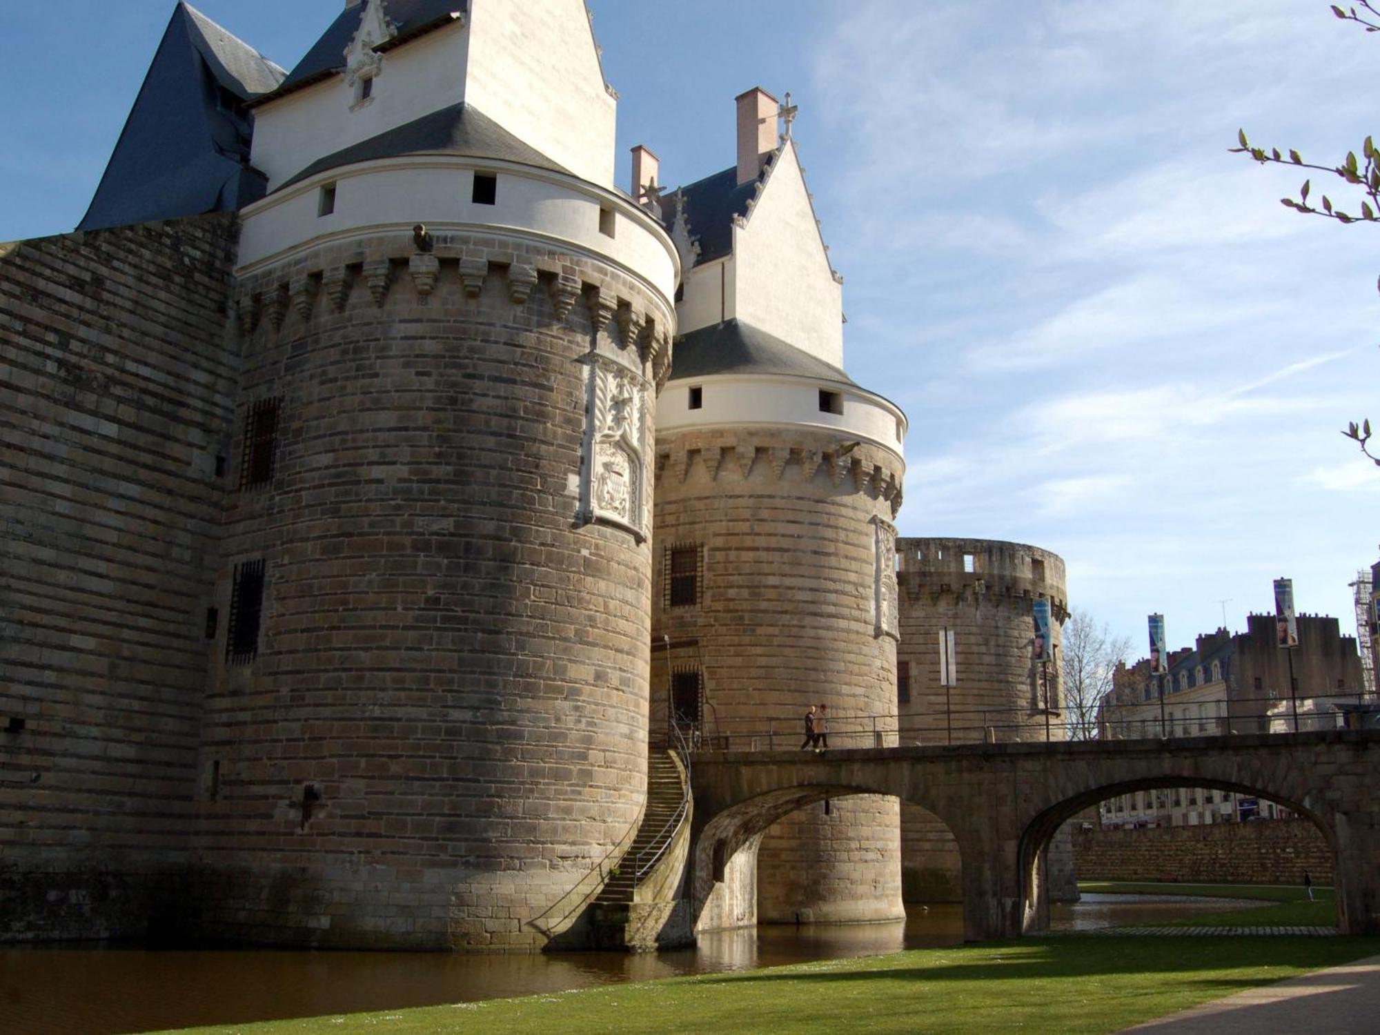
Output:
[[273,190],[317,159],[460,103],[468,51],[469,29],[457,23],[386,52],[374,95],[353,112],[344,76],[270,101],[254,112],[254,167]]

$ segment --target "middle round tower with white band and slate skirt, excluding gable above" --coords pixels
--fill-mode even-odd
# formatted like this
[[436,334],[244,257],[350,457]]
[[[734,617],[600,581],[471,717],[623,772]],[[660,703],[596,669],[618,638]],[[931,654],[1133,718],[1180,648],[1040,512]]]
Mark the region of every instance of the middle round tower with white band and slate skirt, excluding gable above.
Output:
[[[653,729],[795,749],[828,704],[831,748],[894,744],[904,418],[741,324],[678,357],[658,403]],[[796,811],[762,839],[756,919],[903,916],[898,851],[896,799]]]

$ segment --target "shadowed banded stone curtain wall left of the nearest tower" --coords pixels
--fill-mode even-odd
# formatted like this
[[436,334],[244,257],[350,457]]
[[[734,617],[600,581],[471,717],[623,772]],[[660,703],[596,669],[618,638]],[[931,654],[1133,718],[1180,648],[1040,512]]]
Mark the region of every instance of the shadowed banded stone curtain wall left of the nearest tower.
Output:
[[0,246],[0,938],[138,936],[174,908],[233,243],[203,217]]

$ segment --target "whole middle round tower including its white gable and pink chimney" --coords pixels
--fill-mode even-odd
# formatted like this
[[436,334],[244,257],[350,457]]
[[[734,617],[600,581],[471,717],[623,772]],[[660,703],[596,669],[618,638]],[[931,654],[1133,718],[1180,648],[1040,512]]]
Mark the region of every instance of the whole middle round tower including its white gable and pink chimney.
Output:
[[[737,163],[661,199],[684,280],[657,403],[653,723],[795,749],[827,704],[831,748],[872,747],[896,738],[905,417],[843,373],[795,113],[741,94]],[[904,916],[894,798],[760,818],[702,929]]]

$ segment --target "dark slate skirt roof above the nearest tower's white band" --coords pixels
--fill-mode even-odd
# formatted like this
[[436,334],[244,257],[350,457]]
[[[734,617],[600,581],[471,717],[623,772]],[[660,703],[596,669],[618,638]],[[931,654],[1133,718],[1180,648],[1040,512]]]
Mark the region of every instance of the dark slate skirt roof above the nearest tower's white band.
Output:
[[473,105],[457,103],[317,159],[283,184],[283,188],[342,166],[403,155],[462,155],[569,172],[535,148],[513,137]]

